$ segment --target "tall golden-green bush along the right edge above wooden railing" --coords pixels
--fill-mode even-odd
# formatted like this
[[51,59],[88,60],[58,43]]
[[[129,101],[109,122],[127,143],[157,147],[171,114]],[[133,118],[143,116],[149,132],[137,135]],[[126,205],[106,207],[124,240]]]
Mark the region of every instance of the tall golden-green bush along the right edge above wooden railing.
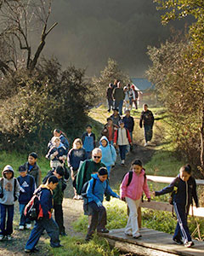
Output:
[[194,49],[185,38],[149,47],[153,65],[147,74],[156,84],[159,97],[167,107],[173,143],[178,152],[199,167],[203,175],[203,58],[193,57]]

